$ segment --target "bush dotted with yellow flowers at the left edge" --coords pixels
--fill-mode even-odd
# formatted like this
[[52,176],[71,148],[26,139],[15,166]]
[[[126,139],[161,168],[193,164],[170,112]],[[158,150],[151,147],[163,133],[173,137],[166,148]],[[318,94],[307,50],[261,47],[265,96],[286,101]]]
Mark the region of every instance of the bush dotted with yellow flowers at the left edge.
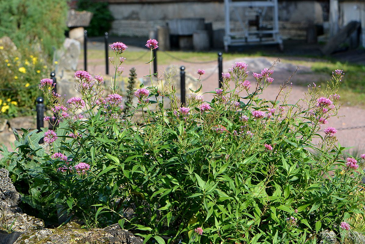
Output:
[[29,113],[39,92],[39,80],[46,75],[45,58],[37,52],[20,54],[10,43],[0,43],[1,116]]

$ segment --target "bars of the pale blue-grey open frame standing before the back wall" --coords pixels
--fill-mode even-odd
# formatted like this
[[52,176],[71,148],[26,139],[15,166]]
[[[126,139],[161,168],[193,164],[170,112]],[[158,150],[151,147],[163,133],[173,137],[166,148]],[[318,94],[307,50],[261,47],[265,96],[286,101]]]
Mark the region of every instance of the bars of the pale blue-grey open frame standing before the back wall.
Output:
[[[272,30],[256,30],[252,31],[247,28],[248,19],[244,23],[239,16],[238,9],[244,8],[246,11],[249,8],[262,9],[262,15],[265,14],[267,8],[273,9],[273,28]],[[231,11],[234,12],[239,24],[242,26],[242,31],[231,31]],[[278,44],[280,50],[283,50],[283,40],[279,35],[279,21],[278,21],[278,3],[277,0],[241,0],[232,1],[224,0],[225,12],[225,34],[224,34],[224,50],[228,51],[229,45],[242,44]],[[271,34],[271,37],[262,37],[263,34]]]

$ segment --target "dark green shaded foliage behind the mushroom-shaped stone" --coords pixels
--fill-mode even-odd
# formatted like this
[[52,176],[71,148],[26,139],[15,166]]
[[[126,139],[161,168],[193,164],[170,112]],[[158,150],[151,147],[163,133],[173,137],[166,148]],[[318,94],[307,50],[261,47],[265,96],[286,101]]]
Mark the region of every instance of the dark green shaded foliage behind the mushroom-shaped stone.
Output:
[[77,1],[77,10],[86,10],[93,13],[90,25],[86,28],[89,36],[101,36],[110,30],[114,17],[108,5],[107,2],[95,2],[91,0]]

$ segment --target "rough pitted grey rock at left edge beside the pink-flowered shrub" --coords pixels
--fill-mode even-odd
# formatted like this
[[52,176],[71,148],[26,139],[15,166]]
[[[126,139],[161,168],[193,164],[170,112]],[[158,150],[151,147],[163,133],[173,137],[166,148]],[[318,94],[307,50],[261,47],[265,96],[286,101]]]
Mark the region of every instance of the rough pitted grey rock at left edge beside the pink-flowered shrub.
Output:
[[17,213],[20,211],[18,207],[19,193],[16,192],[9,172],[6,169],[0,169],[0,217],[1,213],[10,211]]

